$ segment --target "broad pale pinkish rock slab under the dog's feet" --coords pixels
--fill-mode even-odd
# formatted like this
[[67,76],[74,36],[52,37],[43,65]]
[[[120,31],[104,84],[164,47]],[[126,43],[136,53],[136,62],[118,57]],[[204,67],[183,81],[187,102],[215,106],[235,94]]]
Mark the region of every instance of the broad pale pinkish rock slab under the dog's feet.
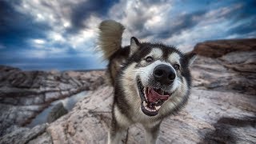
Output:
[[[111,87],[104,86],[89,93],[69,114],[51,123],[47,131],[53,142],[106,143],[111,119],[112,92]],[[239,132],[232,135],[232,140],[239,138],[239,141],[235,142],[250,142],[256,136],[255,102],[252,95],[194,88],[186,108],[180,114],[170,116],[162,122],[158,143],[233,142],[226,139],[231,136],[227,131],[218,137],[215,134],[217,129],[226,130],[226,127],[235,125],[232,123],[236,121],[241,121],[242,124],[233,127],[232,130]],[[223,119],[227,119],[226,122],[223,122]],[[249,139],[241,137],[247,134],[250,134],[247,137]],[[142,126],[131,126],[128,139],[123,135],[122,141],[144,143]]]

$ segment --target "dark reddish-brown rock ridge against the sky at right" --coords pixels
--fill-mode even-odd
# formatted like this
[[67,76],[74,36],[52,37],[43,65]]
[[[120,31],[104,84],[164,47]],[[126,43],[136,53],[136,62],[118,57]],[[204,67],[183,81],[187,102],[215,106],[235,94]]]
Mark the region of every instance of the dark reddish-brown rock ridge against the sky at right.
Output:
[[199,42],[194,46],[196,54],[219,58],[234,51],[256,50],[256,38]]

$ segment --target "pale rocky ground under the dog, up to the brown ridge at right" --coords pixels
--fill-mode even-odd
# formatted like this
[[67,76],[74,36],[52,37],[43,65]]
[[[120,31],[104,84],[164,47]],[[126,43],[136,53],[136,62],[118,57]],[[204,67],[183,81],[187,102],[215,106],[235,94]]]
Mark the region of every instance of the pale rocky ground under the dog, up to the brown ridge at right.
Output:
[[[158,143],[255,143],[256,39],[202,42],[194,51],[190,100],[162,122]],[[7,130],[0,143],[106,143],[112,98],[111,86],[98,85],[57,121]],[[130,126],[122,142],[145,143],[142,126]]]

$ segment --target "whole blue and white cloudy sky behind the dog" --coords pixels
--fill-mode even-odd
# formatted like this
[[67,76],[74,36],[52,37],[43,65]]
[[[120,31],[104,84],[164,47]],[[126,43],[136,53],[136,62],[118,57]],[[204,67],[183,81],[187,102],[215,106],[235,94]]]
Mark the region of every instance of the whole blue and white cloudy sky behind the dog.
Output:
[[255,0],[0,0],[0,65],[22,70],[106,67],[98,25],[121,22],[130,37],[186,52],[198,42],[255,38]]

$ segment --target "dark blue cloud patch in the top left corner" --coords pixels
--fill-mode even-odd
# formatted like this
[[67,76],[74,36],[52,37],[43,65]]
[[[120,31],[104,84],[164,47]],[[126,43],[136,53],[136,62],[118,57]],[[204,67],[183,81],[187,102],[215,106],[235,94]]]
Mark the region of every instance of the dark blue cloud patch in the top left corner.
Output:
[[34,22],[29,15],[14,9],[16,2],[0,1],[0,43],[5,45],[26,45],[27,38],[45,37],[50,27],[46,23]]

